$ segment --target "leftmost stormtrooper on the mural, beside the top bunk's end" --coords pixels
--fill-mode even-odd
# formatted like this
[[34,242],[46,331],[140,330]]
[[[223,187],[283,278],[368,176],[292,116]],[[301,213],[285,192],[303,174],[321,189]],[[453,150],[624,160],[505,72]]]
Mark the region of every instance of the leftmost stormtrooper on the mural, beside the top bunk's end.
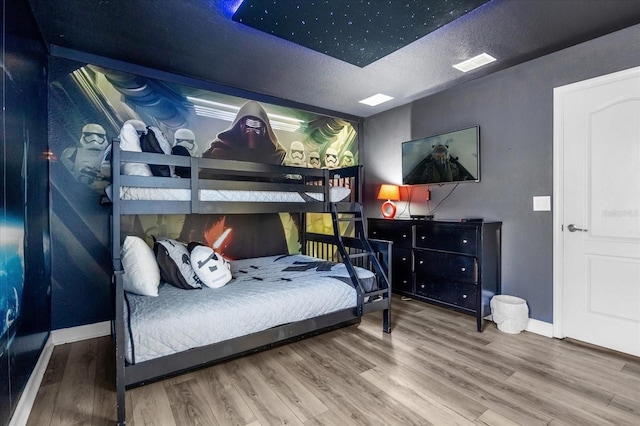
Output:
[[85,124],[76,146],[65,148],[60,161],[78,182],[100,191],[109,184],[108,177],[100,171],[108,146],[107,132],[101,125]]

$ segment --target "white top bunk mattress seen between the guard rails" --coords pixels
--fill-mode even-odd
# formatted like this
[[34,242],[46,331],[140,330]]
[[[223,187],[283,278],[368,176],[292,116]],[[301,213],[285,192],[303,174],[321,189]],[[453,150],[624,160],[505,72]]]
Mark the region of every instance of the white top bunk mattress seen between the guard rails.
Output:
[[[106,189],[107,196],[113,200],[112,187]],[[243,191],[231,189],[201,189],[200,201],[239,201],[239,202],[278,202],[305,203],[325,201],[322,192],[291,192],[291,191]],[[342,186],[329,188],[330,202],[348,201],[351,189]],[[190,201],[191,190],[180,188],[143,188],[122,187],[120,199],[126,201]]]

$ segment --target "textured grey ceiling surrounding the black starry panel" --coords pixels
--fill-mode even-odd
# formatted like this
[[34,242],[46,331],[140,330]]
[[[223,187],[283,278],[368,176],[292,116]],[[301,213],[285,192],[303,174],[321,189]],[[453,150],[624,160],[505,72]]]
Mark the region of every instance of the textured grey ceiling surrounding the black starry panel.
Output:
[[[640,23],[639,0],[491,0],[360,67],[233,21],[239,0],[28,1],[49,46],[356,117]],[[498,60],[452,67],[483,51]],[[358,103],[378,92],[394,99]]]

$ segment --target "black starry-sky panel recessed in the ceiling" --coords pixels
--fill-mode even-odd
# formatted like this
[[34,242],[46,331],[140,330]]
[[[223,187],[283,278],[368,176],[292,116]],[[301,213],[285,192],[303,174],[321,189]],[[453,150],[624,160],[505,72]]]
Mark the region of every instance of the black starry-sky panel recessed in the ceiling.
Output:
[[489,0],[244,0],[233,20],[365,67]]

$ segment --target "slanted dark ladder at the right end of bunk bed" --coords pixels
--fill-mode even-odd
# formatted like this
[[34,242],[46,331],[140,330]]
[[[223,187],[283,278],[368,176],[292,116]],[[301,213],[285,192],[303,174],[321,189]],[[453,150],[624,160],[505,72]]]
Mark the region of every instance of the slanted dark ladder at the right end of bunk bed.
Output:
[[[333,232],[338,240],[338,250],[342,256],[343,262],[351,276],[352,281],[358,283],[358,314],[364,315],[368,312],[383,310],[383,329],[386,333],[391,332],[391,284],[389,276],[383,270],[378,255],[371,247],[367,235],[364,230],[364,219],[362,216],[362,205],[360,203],[331,203],[331,218],[333,222]],[[353,227],[347,227],[347,232],[353,230],[353,237],[344,235],[340,230],[340,223],[348,222]],[[353,238],[357,242],[357,253],[349,253],[346,249],[343,238]],[[350,245],[351,246],[351,245]],[[366,292],[364,286],[360,282],[354,267],[356,259],[367,261],[372,272],[375,273],[378,280],[378,288]],[[389,259],[390,262],[390,259]]]

